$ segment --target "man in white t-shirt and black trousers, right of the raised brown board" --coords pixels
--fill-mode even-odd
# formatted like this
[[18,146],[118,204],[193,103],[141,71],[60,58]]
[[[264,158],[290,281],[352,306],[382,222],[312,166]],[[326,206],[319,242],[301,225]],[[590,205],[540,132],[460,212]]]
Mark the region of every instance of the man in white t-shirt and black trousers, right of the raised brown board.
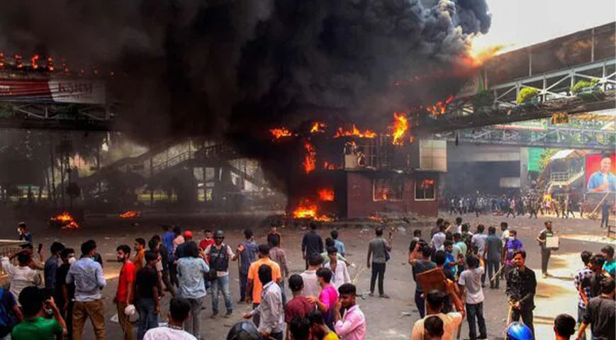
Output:
[[[466,256],[466,266],[469,268],[460,274],[458,284],[465,296],[469,337],[471,340],[487,339],[486,320],[483,319],[483,289],[481,288],[481,277],[485,271],[479,266],[479,258],[474,254]],[[477,336],[476,322],[479,324],[479,336]]]

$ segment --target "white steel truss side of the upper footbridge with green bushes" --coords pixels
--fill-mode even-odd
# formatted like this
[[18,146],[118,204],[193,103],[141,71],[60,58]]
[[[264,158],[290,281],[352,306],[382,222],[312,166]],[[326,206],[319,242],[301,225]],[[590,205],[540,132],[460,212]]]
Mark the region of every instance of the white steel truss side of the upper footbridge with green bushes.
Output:
[[[603,93],[590,100],[578,98],[571,93],[571,86],[581,79],[597,79]],[[539,94],[531,103],[518,105],[517,94],[525,87],[539,89]],[[422,120],[421,128],[429,132],[446,132],[548,118],[552,113],[576,114],[615,108],[616,60],[601,60],[494,84],[488,91],[494,98],[491,106],[475,108],[471,98],[454,100],[444,114]]]

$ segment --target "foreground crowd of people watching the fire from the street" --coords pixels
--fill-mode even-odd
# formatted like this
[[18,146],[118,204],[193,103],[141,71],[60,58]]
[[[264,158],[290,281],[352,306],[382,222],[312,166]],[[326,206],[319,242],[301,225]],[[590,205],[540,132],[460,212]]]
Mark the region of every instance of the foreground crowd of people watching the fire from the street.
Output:
[[[53,242],[43,262],[40,247],[34,251],[25,224],[19,225],[19,233],[22,250],[0,259],[10,278],[9,290],[0,290],[0,339],[80,340],[86,319],[90,319],[94,337],[106,339],[102,300],[106,278],[96,242],[84,242],[79,258],[74,249]],[[549,276],[553,246],[549,239],[555,234],[548,221],[536,238],[544,277]],[[138,340],[209,337],[201,331],[206,295],[211,295],[211,318],[218,317],[220,295],[224,317],[233,315],[230,261],[239,262],[240,303],[252,305],[243,317],[252,322],[236,324],[228,339],[366,339],[366,317],[357,305],[357,286],[349,275],[345,244],[338,236],[333,230],[324,242],[317,225],[311,223],[301,242],[306,270],[292,275],[276,225],[267,234],[267,244],[254,242],[252,230],[245,229],[245,239],[235,249],[225,244],[222,230],[206,230],[197,243],[191,231],[179,227],[164,227],[162,236],[153,235],[147,242],[137,238],[133,248],[120,244],[116,255],[122,266],[113,301],[124,339],[133,339],[135,323]],[[383,228],[376,227],[366,260],[366,268],[371,269],[371,296],[378,287],[379,297],[389,297],[384,285],[392,246],[391,232],[386,239]],[[427,241],[415,229],[408,263],[416,282],[414,300],[420,319],[413,325],[411,339],[452,340],[459,336],[465,318],[469,339],[488,339],[483,316],[486,280],[490,289],[499,289],[500,281],[506,280],[512,321],[505,330],[507,339],[534,339],[537,279],[526,266],[526,258],[525,245],[507,222],[501,223],[497,235],[495,227],[488,227],[486,234],[483,225],[471,232],[461,217],[454,225],[439,218]],[[605,246],[597,254],[583,251],[581,260],[583,268],[574,282],[578,315],[560,314],[554,319],[556,339],[571,339],[576,328],[576,339],[586,339],[587,328],[593,339],[615,339],[614,248]],[[428,272],[440,273],[442,282],[423,286],[420,277]],[[172,298],[167,323],[160,326],[161,300],[166,294]]]

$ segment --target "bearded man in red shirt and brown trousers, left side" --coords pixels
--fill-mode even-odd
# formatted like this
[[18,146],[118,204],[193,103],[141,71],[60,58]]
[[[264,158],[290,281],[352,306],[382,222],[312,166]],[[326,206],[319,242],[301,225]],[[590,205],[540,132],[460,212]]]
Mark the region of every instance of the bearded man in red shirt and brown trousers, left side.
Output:
[[118,278],[118,290],[113,299],[118,305],[118,322],[124,331],[124,340],[133,340],[133,324],[128,321],[128,316],[124,314],[126,306],[133,304],[133,285],[135,284],[135,263],[130,261],[130,246],[122,244],[116,249],[118,252],[118,262],[123,263]]

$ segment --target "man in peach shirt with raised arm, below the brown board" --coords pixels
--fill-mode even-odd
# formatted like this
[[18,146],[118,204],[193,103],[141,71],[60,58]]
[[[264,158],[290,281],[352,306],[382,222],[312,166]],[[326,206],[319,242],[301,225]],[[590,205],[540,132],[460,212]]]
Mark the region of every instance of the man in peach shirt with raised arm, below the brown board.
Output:
[[462,323],[462,319],[464,319],[464,307],[462,306],[462,302],[460,301],[458,295],[454,290],[454,282],[447,283],[447,293],[451,296],[454,305],[456,306],[456,310],[458,312],[450,312],[447,314],[443,314],[441,312],[443,307],[443,299],[444,293],[439,290],[432,290],[430,293],[426,295],[426,312],[427,315],[423,319],[419,319],[413,325],[413,336],[411,340],[424,340],[425,339],[425,328],[424,322],[428,317],[435,315],[443,320],[443,329],[444,333],[442,336],[442,340],[454,340],[454,337],[457,334],[457,330],[459,325]]

